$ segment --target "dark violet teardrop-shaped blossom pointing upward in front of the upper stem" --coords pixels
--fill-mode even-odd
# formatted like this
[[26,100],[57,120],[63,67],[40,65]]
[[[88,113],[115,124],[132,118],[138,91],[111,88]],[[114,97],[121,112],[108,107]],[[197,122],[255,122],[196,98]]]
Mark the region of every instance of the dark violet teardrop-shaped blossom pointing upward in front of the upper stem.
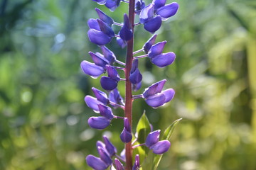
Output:
[[124,26],[122,26],[121,30],[119,31],[120,38],[124,41],[128,41],[132,39],[132,26],[129,23],[129,18],[126,13],[124,13]]

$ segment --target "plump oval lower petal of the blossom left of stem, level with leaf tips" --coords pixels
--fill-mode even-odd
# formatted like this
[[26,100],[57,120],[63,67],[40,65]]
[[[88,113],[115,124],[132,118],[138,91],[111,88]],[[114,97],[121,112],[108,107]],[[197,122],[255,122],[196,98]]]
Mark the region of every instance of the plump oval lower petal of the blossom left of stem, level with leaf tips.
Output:
[[105,118],[103,116],[90,117],[88,119],[88,124],[90,125],[90,128],[94,128],[97,130],[103,130],[103,129],[107,128],[107,126],[110,125],[110,119]]

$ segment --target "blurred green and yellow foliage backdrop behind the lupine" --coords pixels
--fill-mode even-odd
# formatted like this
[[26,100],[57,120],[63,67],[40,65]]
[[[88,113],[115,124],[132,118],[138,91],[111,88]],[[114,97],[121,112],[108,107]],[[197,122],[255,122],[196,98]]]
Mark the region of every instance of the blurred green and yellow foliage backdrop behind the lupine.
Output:
[[[149,4],[150,1],[146,1]],[[167,4],[172,1],[167,1]],[[176,96],[153,109],[134,102],[134,125],[145,110],[154,129],[183,118],[159,169],[256,169],[256,1],[178,0],[176,16],[158,30],[157,42],[176,61],[160,69],[140,60],[142,91],[167,79]],[[87,154],[97,155],[102,134],[122,151],[122,121],[107,130],[88,127],[96,115],[84,97],[99,79],[80,70],[87,52],[100,52],[87,38],[88,18],[101,8],[122,22],[127,4],[114,13],[94,1],[1,0],[0,2],[0,169],[89,169]],[[113,27],[117,33],[118,27]],[[137,26],[135,49],[151,35]],[[125,49],[107,45],[124,61]],[[119,83],[124,94],[124,83]],[[122,115],[122,110],[114,111]],[[134,127],[135,128],[135,127]]]

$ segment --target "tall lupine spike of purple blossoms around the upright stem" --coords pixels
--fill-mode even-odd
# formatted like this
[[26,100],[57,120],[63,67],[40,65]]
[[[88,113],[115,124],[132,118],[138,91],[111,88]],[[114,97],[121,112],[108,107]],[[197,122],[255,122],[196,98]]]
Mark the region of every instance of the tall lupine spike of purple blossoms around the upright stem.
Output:
[[[114,52],[108,49],[106,45],[116,37],[118,45],[122,48],[127,46],[127,51],[132,50],[133,45],[129,45],[129,42],[134,39],[134,26],[143,24],[145,30],[150,33],[155,33],[156,30],[159,30],[161,27],[162,21],[176,14],[178,4],[176,2],[166,4],[166,0],[153,0],[151,4],[147,6],[143,0],[93,1],[96,1],[100,5],[105,5],[110,11],[114,11],[121,2],[128,3],[129,5],[132,3],[133,9],[132,13],[129,13],[129,16],[132,15],[132,17],[134,17],[135,14],[137,14],[139,23],[131,23],[132,21],[126,13],[124,13],[123,23],[117,23],[99,8],[95,8],[99,18],[90,18],[87,21],[89,27],[87,32],[88,38],[90,42],[100,47],[101,53],[89,52],[92,62],[84,60],[81,62],[80,66],[82,72],[90,77],[94,79],[100,77],[100,85],[102,89],[105,90],[100,91],[92,87],[92,92],[95,97],[89,95],[85,96],[87,106],[92,108],[95,113],[99,114],[98,116],[90,117],[88,119],[88,125],[97,130],[103,130],[110,125],[112,119],[122,119],[124,121],[124,128],[122,132],[120,130],[120,140],[124,142],[125,145],[129,145],[130,149],[144,146],[149,148],[148,150],[151,150],[154,154],[163,154],[167,152],[171,146],[169,138],[159,140],[161,131],[153,131],[152,128],[151,130],[144,128],[146,131],[143,136],[148,134],[146,137],[133,135],[131,127],[132,120],[130,120],[132,116],[128,116],[132,114],[132,109],[127,109],[127,107],[131,108],[132,104],[127,106],[127,103],[132,103],[132,101],[137,98],[143,98],[149,106],[158,108],[174,98],[174,89],[164,90],[164,84],[166,84],[166,79],[164,79],[146,88],[142,94],[131,94],[130,96],[132,96],[132,98],[125,96],[124,100],[118,91],[118,84],[119,81],[127,81],[131,85],[126,87],[126,91],[129,91],[129,88],[133,91],[138,91],[142,87],[142,73],[139,71],[139,60],[149,58],[151,63],[155,64],[157,67],[166,67],[174,62],[176,55],[174,52],[163,52],[166,41],[156,42],[156,34],[152,35],[151,38],[144,43],[142,49],[132,52],[132,55],[127,55],[127,58],[129,57],[132,61],[129,63],[117,60]],[[112,29],[113,25],[120,27],[118,33],[114,33]],[[140,52],[144,52],[144,54],[137,55]],[[124,72],[125,77],[120,77],[119,72]],[[114,115],[112,108],[124,109],[124,116]],[[147,124],[149,125],[149,123]],[[133,161],[131,161],[132,154],[127,154],[132,153],[131,151],[127,152],[124,149],[124,152],[121,152],[119,156],[116,147],[112,145],[106,136],[103,137],[103,140],[104,142],[98,141],[96,145],[100,157],[95,157],[92,154],[86,157],[86,162],[92,169],[103,170],[110,166],[110,169],[122,170],[125,167],[125,169],[137,170],[143,166],[143,163],[140,162],[139,154],[136,154],[136,156],[133,157]],[[131,165],[132,162],[133,166]]]

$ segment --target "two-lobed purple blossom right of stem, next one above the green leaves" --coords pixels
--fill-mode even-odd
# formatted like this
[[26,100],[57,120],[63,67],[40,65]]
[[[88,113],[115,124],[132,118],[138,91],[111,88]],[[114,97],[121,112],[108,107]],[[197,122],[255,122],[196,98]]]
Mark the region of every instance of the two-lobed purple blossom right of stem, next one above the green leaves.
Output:
[[155,84],[152,84],[145,89],[142,96],[145,98],[145,101],[149,106],[157,108],[159,106],[163,106],[164,103],[167,103],[171,101],[172,98],[174,98],[174,89],[167,89],[166,91],[162,91],[165,83],[166,79],[156,82]]

